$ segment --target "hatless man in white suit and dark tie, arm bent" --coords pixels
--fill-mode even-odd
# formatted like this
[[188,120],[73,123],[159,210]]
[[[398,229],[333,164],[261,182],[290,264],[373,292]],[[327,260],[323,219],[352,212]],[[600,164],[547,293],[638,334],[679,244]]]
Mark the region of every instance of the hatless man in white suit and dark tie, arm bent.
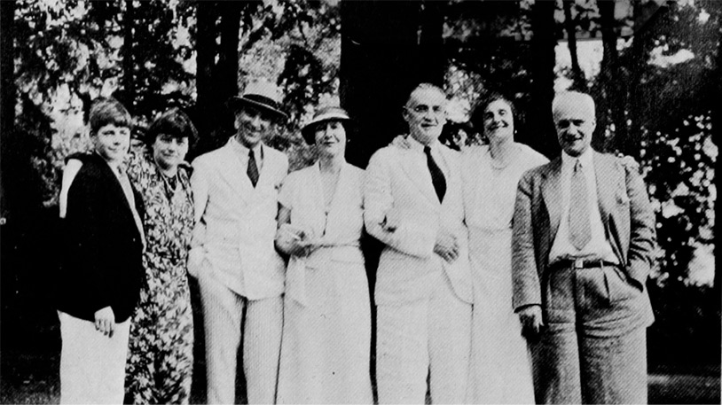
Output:
[[366,230],[386,246],[376,275],[380,403],[435,403],[467,392],[471,273],[459,157],[438,142],[446,96],[422,83],[404,106],[408,148],[389,145],[366,169]]

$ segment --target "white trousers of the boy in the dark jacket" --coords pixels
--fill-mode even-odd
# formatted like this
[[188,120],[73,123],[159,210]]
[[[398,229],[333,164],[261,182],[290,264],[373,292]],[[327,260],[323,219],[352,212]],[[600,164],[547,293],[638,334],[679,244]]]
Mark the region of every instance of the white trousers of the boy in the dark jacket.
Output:
[[130,321],[115,323],[113,336],[90,321],[58,311],[60,318],[60,403],[121,404]]

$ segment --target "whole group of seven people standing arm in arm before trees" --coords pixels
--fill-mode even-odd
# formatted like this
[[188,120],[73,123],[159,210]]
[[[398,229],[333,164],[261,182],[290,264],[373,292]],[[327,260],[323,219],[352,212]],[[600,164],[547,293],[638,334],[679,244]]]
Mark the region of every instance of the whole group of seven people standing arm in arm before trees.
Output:
[[[235,401],[239,348],[248,403],[372,403],[372,328],[379,403],[647,400],[654,215],[638,167],[591,150],[591,97],[555,97],[549,162],[514,142],[499,94],[472,116],[488,144],[444,146],[447,97],[421,83],[408,134],[365,170],[344,158],[349,114],[319,107],[302,128],[318,160],[291,174],[263,143],[280,98],[249,83],[229,101],[236,134],[192,169],[184,113],[163,113],[128,158],[128,112],[95,102],[95,152],[63,178],[62,403],[189,401],[186,270],[208,403]],[[365,231],[384,245],[373,303]]]

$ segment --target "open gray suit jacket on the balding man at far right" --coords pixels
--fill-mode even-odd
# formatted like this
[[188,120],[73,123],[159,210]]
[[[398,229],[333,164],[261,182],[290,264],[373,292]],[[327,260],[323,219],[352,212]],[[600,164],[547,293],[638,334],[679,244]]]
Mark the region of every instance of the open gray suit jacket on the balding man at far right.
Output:
[[[636,165],[594,152],[594,171],[601,221],[608,241],[630,284],[644,290],[654,263],[655,214]],[[561,221],[561,156],[526,172],[514,206],[512,272],[514,309],[544,307],[549,251]],[[648,302],[647,292],[644,297]],[[651,323],[644,306],[641,322]]]

